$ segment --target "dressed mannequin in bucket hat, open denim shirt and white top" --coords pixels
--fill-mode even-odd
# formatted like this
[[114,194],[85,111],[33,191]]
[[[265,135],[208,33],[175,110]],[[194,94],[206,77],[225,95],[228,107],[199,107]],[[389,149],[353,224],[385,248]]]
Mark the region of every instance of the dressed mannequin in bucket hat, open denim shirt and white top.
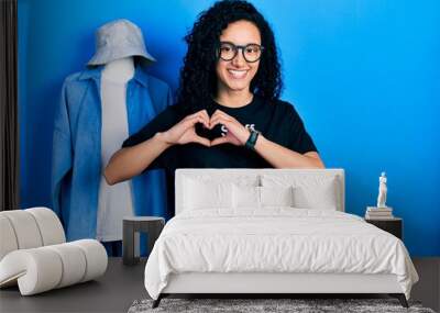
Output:
[[111,188],[102,176],[129,133],[173,103],[169,86],[145,70],[154,62],[141,29],[116,20],[97,30],[87,67],[63,82],[54,114],[51,188],[53,211],[68,242],[97,238],[118,256],[121,249],[112,247],[121,246],[123,216],[170,215],[165,172],[146,171]]

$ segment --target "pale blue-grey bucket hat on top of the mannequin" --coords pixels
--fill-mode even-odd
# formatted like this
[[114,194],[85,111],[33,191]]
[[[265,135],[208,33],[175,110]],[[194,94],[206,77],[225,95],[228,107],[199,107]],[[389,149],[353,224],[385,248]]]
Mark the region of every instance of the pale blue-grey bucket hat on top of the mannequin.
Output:
[[87,65],[140,56],[147,64],[156,59],[146,51],[142,31],[129,20],[116,20],[100,26],[96,32],[96,53]]

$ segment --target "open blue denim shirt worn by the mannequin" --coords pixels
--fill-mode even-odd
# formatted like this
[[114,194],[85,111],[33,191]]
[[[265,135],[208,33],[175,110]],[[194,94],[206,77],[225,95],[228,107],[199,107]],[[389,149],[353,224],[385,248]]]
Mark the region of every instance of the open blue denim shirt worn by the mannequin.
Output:
[[[53,210],[68,241],[96,237],[99,183],[106,166],[101,164],[101,70],[102,66],[68,76],[55,112]],[[168,85],[138,65],[127,86],[129,134],[136,133],[172,101]],[[163,216],[167,205],[164,170],[133,178],[132,199],[135,215]]]

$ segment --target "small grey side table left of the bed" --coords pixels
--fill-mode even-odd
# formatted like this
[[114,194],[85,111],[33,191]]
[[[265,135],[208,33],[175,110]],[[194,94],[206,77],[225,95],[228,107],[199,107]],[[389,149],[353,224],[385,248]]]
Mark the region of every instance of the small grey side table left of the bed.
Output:
[[135,265],[139,262],[140,234],[148,236],[148,254],[165,225],[165,219],[156,216],[129,216],[123,219],[122,262]]

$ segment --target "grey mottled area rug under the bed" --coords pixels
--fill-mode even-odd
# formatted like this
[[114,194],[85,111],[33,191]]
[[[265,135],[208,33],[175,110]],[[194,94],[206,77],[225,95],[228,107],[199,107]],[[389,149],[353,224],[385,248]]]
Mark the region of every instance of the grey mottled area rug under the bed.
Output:
[[323,312],[417,312],[435,313],[422,308],[420,302],[409,301],[409,309],[400,305],[397,299],[169,299],[165,298],[156,309],[152,309],[153,300],[136,300],[129,313],[147,312],[234,312],[234,313],[323,313]]

